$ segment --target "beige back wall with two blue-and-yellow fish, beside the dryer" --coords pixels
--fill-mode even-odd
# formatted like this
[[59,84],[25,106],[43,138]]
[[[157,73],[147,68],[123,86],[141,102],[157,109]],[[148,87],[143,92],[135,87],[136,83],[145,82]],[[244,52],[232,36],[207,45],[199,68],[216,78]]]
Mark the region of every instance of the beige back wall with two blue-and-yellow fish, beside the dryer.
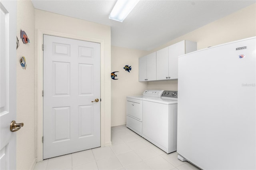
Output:
[[[111,79],[111,126],[126,124],[126,96],[141,95],[147,88],[146,82],[138,81],[138,58],[147,52],[111,47],[111,72],[119,71],[118,80]],[[130,73],[123,69],[125,65],[132,66]]]

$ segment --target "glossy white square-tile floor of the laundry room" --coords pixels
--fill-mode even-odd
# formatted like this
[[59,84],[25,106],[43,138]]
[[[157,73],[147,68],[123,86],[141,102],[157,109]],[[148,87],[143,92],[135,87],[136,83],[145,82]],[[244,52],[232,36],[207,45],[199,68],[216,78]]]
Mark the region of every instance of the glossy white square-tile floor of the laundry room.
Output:
[[38,162],[34,170],[199,170],[166,154],[126,125],[111,128],[112,146],[94,148]]

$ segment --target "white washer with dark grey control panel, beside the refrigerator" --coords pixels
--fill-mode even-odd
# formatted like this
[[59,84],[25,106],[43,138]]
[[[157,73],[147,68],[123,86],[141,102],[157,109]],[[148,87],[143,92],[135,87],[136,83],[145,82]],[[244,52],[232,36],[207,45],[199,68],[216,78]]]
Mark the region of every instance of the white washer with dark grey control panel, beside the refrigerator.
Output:
[[142,100],[142,137],[166,153],[177,150],[177,105],[177,91]]

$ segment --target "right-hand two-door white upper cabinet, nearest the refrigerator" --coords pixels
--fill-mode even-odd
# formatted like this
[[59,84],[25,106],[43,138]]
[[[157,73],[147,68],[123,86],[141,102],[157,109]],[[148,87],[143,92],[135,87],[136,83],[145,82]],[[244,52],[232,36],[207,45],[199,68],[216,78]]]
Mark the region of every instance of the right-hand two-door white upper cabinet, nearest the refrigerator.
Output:
[[178,79],[178,56],[196,49],[196,42],[183,40],[156,51],[156,80]]

